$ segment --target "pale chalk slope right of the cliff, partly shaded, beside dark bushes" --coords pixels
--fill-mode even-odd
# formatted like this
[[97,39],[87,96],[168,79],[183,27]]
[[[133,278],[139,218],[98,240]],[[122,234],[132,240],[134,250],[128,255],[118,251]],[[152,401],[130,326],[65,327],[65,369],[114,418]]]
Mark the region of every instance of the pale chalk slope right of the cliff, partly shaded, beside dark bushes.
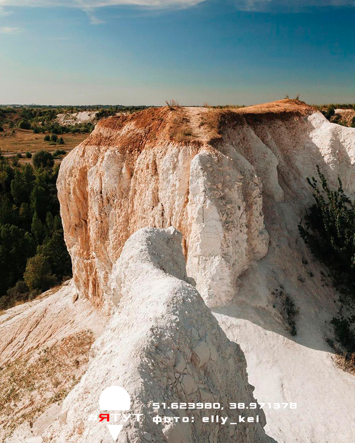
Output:
[[[319,154],[328,181],[336,185],[339,175],[353,196],[355,130],[329,124],[319,113],[309,116],[307,126],[302,149],[288,158],[301,180],[290,171],[283,177],[289,182],[283,201],[264,199],[268,253],[240,277],[233,302],[213,311],[227,337],[245,352],[258,400],[297,402],[296,410],[266,406],[269,435],[279,443],[346,443],[355,438],[355,380],[336,367],[324,340],[333,339],[329,322],[338,313],[338,295],[321,275],[327,270],[299,238],[297,225],[312,201],[305,178],[314,175]],[[280,286],[299,309],[295,337],[273,307],[272,292]]]

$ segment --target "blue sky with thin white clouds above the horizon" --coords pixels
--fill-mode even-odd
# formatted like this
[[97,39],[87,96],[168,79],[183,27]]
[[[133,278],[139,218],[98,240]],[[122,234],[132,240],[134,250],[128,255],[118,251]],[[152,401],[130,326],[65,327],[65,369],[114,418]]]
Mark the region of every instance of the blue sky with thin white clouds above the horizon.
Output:
[[0,0],[0,103],[355,101],[348,0]]

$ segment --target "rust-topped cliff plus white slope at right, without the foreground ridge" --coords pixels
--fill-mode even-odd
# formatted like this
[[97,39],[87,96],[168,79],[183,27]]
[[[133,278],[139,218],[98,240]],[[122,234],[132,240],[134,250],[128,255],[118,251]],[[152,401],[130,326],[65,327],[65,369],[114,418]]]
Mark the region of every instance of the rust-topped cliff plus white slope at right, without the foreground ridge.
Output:
[[[146,226],[173,226],[187,274],[246,355],[258,400],[298,404],[266,410],[267,434],[279,443],[347,443],[355,438],[354,379],[324,340],[335,340],[338,295],[297,225],[313,201],[306,178],[316,165],[330,186],[339,175],[353,197],[354,164],[355,129],[295,100],[102,121],[58,178],[79,293],[114,312],[111,274],[125,241]],[[295,337],[275,290],[299,310]]]

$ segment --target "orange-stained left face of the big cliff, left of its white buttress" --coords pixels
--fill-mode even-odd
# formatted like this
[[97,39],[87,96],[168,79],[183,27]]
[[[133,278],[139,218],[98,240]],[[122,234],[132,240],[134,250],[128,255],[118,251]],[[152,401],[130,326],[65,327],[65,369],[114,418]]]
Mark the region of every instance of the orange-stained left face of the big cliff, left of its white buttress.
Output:
[[169,141],[173,118],[156,109],[137,120],[108,119],[61,167],[59,198],[74,280],[95,305],[111,305],[109,273],[133,232],[171,225],[187,231],[189,167],[198,146]]

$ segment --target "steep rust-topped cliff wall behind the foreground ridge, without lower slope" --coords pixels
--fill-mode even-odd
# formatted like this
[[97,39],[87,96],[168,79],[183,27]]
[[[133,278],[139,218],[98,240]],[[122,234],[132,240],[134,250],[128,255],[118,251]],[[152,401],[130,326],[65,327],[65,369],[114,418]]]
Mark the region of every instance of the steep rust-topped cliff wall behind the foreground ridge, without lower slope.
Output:
[[355,189],[351,131],[292,100],[101,121],[58,177],[79,292],[109,310],[107,281],[128,237],[173,226],[202,297],[209,306],[228,303],[239,276],[268,251],[268,201],[309,201],[304,180],[316,164],[330,167],[330,182],[340,173],[344,188]]

